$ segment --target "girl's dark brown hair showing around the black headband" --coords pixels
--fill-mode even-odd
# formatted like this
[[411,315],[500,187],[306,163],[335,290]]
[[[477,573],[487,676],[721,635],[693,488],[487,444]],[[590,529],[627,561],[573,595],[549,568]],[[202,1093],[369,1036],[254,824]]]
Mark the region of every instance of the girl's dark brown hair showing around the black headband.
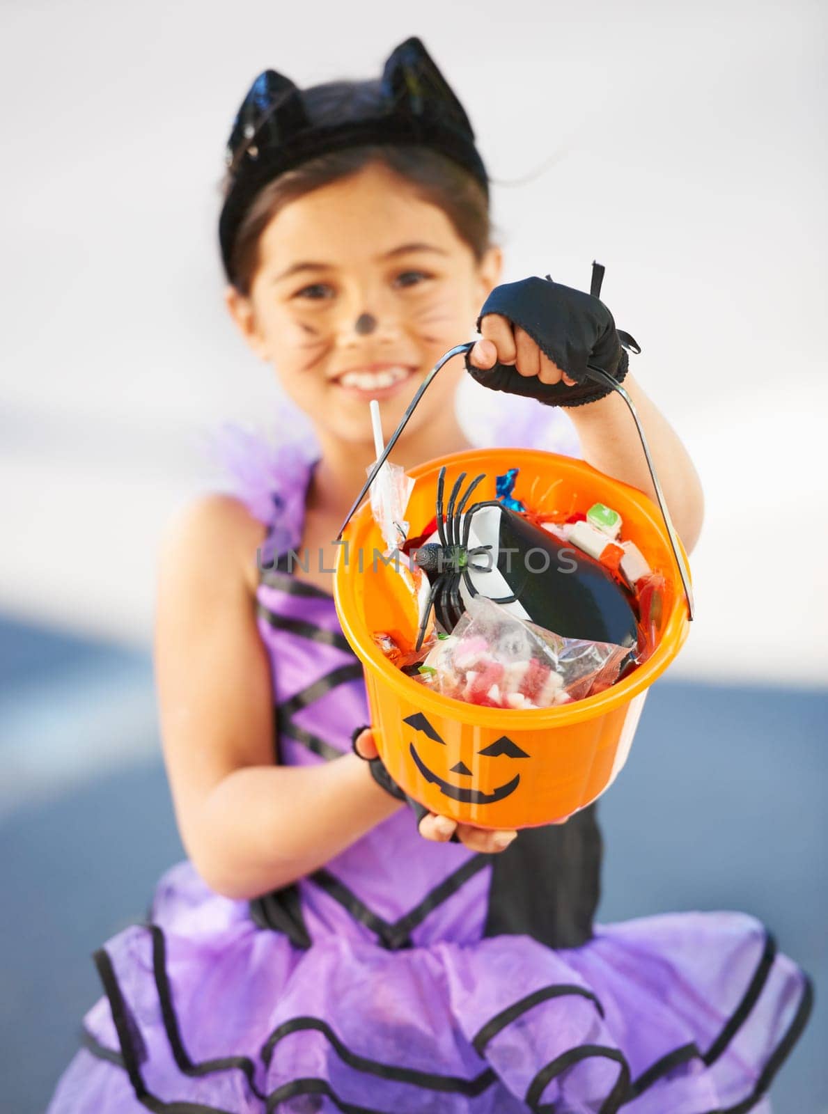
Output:
[[[303,94],[305,110],[315,124],[357,119],[377,110],[378,81],[332,81]],[[259,267],[259,242],[267,224],[289,202],[321,186],[357,174],[371,163],[387,166],[415,186],[418,196],[444,211],[455,232],[479,262],[491,242],[486,194],[459,164],[439,152],[415,144],[364,145],[320,155],[286,170],[264,186],[242,221],[231,261],[233,285],[250,295]],[[230,179],[222,190],[227,194]]]

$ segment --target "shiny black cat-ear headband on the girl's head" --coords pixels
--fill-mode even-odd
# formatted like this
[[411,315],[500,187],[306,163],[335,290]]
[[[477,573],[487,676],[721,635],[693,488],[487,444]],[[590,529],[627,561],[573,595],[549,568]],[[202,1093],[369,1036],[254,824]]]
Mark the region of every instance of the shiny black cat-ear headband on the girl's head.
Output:
[[386,61],[382,108],[371,116],[315,125],[290,78],[264,70],[233,121],[225,163],[231,188],[218,221],[222,260],[231,258],[251,202],[273,178],[318,155],[361,144],[421,144],[471,173],[488,196],[488,175],[466,111],[418,38],[406,39]]

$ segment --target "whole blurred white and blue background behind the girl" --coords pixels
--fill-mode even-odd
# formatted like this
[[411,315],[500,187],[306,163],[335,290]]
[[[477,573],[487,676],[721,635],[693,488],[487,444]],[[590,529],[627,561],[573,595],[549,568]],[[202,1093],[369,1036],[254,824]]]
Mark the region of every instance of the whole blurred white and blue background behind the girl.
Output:
[[0,1110],[42,1110],[89,952],[182,856],[157,545],[221,482],[221,423],[283,420],[222,303],[233,116],[262,69],[372,76],[419,35],[495,178],[506,278],[606,266],[704,482],[698,620],[602,802],[601,918],[761,917],[817,983],[775,1110],[828,1112],[827,23],[806,0],[0,6]]

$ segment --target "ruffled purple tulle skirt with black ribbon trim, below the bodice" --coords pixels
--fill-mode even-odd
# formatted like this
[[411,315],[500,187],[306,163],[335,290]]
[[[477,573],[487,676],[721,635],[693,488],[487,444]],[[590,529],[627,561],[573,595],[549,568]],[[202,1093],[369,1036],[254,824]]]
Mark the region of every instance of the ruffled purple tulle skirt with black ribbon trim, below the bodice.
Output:
[[153,921],[96,955],[106,996],[49,1114],[741,1114],[807,1020],[810,986],[753,918],[596,926],[386,950],[302,950],[189,863]]

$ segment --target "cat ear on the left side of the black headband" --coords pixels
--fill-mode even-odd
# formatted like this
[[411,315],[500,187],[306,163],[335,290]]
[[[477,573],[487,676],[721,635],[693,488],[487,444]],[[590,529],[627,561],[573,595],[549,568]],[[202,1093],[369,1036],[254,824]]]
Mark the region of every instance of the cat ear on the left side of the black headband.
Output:
[[275,70],[264,70],[236,113],[224,160],[228,167],[244,155],[255,160],[265,141],[282,143],[306,124],[302,98],[293,81]]

